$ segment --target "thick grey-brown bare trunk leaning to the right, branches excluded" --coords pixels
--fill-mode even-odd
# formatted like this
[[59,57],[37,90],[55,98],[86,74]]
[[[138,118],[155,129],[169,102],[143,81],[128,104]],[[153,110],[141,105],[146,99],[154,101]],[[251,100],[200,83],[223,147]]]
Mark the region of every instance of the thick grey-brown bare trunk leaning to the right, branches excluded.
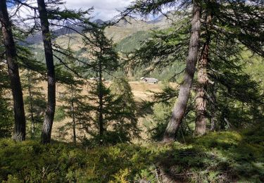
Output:
[[196,68],[196,61],[199,51],[199,37],[201,27],[201,7],[197,0],[194,0],[193,18],[191,22],[191,37],[189,42],[189,54],[187,58],[186,70],[184,72],[184,81],[180,85],[180,92],[177,103],[172,111],[172,117],[163,135],[163,141],[173,141],[178,127],[182,122],[184,113],[187,108],[189,95],[191,91],[191,84],[194,79],[194,72]]

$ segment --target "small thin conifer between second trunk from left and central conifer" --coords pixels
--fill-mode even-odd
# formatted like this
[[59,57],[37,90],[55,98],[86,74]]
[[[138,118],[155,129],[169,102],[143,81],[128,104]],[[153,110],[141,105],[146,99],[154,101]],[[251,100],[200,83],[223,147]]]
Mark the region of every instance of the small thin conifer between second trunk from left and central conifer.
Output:
[[[70,42],[69,42],[70,43]],[[67,56],[65,56],[64,63],[68,65],[71,70],[78,72],[75,75],[73,72],[69,72],[65,77],[63,86],[65,87],[64,92],[60,92],[58,99],[63,102],[62,108],[65,111],[66,117],[70,118],[70,122],[65,125],[65,130],[70,130],[73,132],[73,144],[77,143],[77,130],[80,130],[81,125],[84,121],[89,120],[89,114],[87,113],[87,96],[83,93],[82,87],[84,87],[84,79],[82,78],[83,70],[82,66],[78,65],[73,56],[73,51],[68,45]]]

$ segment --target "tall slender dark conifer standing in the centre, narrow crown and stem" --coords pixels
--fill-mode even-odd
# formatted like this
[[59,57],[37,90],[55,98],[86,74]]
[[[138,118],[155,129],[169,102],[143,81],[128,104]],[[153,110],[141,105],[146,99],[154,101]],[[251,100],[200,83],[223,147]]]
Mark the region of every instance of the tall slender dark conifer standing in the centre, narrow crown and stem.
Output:
[[106,113],[104,106],[111,100],[112,96],[109,89],[103,84],[103,72],[113,72],[118,68],[118,53],[113,49],[112,40],[108,39],[104,34],[103,25],[93,25],[87,27],[89,38],[84,39],[84,44],[89,51],[89,65],[96,73],[96,87],[92,93],[98,97],[97,120],[99,136],[103,136],[106,131],[103,115]]

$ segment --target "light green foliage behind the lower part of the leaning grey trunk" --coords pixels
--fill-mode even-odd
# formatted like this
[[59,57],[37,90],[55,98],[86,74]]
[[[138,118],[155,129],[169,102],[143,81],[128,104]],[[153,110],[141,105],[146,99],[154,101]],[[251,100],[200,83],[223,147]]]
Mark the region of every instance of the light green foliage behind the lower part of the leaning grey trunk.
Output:
[[[178,89],[171,87],[170,84],[165,83],[161,92],[151,92],[151,101],[144,101],[142,109],[144,113],[142,115],[148,115],[148,118],[144,121],[144,125],[150,132],[150,137],[154,141],[161,141],[163,139],[163,134],[168,122],[171,118],[171,109],[175,104],[176,97],[178,96]],[[192,108],[194,104],[192,100],[189,100],[186,115],[177,131],[176,139],[179,141],[184,141],[184,136],[189,135],[193,132],[194,124],[194,109]],[[149,110],[146,110],[149,109]]]

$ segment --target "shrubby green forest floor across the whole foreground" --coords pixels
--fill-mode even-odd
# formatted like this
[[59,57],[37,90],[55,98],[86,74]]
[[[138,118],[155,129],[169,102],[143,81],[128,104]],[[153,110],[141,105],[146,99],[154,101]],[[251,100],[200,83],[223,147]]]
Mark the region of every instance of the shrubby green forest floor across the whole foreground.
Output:
[[0,140],[0,182],[264,182],[264,127],[89,148]]

